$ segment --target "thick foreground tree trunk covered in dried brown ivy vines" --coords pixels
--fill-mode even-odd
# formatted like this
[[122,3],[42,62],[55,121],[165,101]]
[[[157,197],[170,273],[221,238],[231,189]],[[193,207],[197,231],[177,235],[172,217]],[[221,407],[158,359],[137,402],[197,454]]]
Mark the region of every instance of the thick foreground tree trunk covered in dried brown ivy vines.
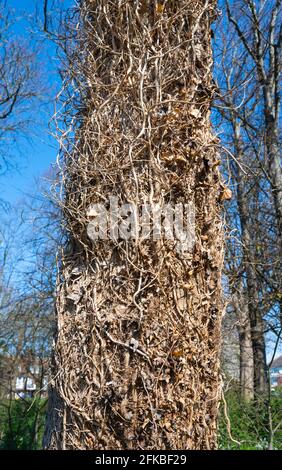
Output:
[[[45,448],[216,447],[226,192],[210,126],[215,3],[81,2]],[[155,226],[140,236],[145,203],[140,227]],[[183,204],[195,236],[164,236],[156,213],[169,206],[176,220]]]

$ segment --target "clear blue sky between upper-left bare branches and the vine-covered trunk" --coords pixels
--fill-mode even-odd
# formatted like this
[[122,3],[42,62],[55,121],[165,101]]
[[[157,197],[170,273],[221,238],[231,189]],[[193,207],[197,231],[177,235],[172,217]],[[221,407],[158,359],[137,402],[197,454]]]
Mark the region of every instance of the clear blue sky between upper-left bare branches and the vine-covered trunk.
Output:
[[[50,2],[51,3],[51,2]],[[72,0],[62,0],[63,7],[73,4]],[[15,10],[17,22],[14,33],[19,38],[28,38],[35,16],[42,19],[42,0],[8,0],[7,5]],[[32,28],[33,29],[33,28]],[[34,33],[34,40],[41,41],[43,34]],[[39,106],[34,110],[34,125],[30,126],[29,140],[19,139],[16,146],[10,149],[17,170],[1,177],[1,198],[15,204],[24,194],[34,193],[35,180],[48,172],[50,165],[56,160],[57,144],[50,136],[48,123],[52,116],[54,97],[60,89],[60,78],[57,67],[56,50],[50,41],[43,45],[44,54],[38,57],[38,66],[43,74],[48,74],[46,83],[50,99],[49,106]]]

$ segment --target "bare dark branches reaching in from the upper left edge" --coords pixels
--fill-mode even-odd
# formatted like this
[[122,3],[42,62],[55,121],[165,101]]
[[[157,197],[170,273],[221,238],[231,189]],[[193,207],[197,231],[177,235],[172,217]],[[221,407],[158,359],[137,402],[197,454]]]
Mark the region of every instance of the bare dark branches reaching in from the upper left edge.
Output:
[[7,2],[1,0],[0,175],[12,166],[12,143],[15,144],[20,136],[32,134],[34,120],[38,119],[34,106],[38,108],[45,90],[37,60],[37,46],[14,32],[15,22]]

